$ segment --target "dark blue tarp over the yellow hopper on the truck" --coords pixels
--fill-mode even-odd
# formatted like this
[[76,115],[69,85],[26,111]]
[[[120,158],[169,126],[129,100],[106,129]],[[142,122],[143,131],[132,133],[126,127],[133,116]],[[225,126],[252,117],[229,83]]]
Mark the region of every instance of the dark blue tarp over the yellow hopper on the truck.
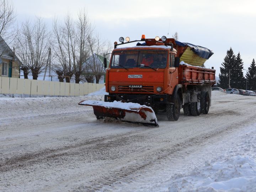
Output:
[[209,59],[210,56],[213,55],[213,52],[210,49],[205,48],[205,47],[196,46],[196,45],[193,45],[191,43],[181,43],[179,41],[175,41],[175,43],[178,46],[182,46],[182,47],[188,46],[188,47],[192,48],[192,51],[194,53],[196,53],[199,57],[202,57],[202,58],[205,58],[205,59]]

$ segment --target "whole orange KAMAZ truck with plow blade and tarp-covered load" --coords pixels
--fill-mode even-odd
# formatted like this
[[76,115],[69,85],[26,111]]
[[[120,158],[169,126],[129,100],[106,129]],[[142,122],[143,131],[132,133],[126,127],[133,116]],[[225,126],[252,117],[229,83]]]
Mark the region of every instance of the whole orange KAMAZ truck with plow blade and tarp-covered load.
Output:
[[[105,104],[115,102],[116,107],[89,103],[94,106],[98,119],[114,117],[138,122],[142,118],[144,124],[158,126],[151,113],[166,113],[169,121],[178,120],[181,108],[185,115],[208,113],[215,70],[204,68],[203,64],[213,54],[211,50],[165,36],[146,39],[142,35],[136,41],[127,37],[127,42],[120,37],[119,41],[119,44],[114,43],[108,66],[104,59],[106,92],[109,93],[105,95]],[[120,47],[133,42],[138,43]],[[138,103],[144,107],[124,109],[120,103]],[[146,120],[145,116],[150,118]],[[143,121],[139,123],[143,124]]]

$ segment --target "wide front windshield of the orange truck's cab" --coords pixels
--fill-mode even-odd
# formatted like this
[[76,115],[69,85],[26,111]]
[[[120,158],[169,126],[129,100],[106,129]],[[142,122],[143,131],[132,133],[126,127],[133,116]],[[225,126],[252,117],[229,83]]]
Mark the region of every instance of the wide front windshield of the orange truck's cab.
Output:
[[166,51],[118,51],[113,53],[111,68],[165,68],[166,58]]

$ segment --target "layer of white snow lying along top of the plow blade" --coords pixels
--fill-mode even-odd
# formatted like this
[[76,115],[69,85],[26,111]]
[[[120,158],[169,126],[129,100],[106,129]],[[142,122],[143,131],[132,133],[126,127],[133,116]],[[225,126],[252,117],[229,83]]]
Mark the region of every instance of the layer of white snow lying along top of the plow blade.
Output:
[[140,105],[139,103],[122,103],[121,101],[104,102],[104,101],[86,100],[86,101],[81,102],[80,104],[82,104],[82,105],[98,105],[98,106],[102,106],[102,107],[106,107],[106,108],[114,107],[114,108],[125,109],[125,110],[134,110],[134,111],[137,111],[141,107],[152,109],[151,107],[148,107],[145,105]]

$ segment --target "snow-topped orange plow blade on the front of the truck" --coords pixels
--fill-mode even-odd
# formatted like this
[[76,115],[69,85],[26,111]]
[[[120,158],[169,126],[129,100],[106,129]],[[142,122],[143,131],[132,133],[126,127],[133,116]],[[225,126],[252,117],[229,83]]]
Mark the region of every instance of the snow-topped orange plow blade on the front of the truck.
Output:
[[145,105],[139,105],[138,103],[85,100],[78,103],[78,105],[92,106],[97,119],[112,117],[129,123],[159,127],[153,109]]

